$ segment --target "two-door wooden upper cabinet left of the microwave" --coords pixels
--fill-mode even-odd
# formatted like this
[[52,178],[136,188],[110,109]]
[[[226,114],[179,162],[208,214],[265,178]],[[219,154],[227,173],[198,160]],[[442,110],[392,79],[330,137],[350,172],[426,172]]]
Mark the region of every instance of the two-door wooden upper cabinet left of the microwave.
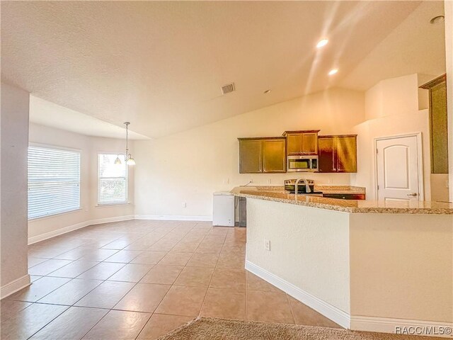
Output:
[[286,138],[238,138],[240,174],[286,172]]

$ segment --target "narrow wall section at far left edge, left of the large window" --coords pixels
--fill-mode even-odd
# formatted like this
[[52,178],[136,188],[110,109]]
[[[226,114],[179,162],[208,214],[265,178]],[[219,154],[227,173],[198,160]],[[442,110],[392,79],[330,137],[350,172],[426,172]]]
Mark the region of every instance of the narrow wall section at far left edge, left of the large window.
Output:
[[[27,276],[28,92],[1,83],[1,281]],[[25,279],[25,284],[29,278]],[[21,288],[21,287],[15,287]],[[8,293],[12,293],[11,291]]]

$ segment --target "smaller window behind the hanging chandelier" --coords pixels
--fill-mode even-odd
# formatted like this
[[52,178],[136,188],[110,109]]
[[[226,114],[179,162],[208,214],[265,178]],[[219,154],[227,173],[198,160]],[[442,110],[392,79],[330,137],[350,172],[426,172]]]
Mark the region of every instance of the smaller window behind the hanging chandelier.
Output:
[[[121,164],[115,164],[119,157]],[[127,203],[127,164],[124,155],[98,154],[98,205]]]

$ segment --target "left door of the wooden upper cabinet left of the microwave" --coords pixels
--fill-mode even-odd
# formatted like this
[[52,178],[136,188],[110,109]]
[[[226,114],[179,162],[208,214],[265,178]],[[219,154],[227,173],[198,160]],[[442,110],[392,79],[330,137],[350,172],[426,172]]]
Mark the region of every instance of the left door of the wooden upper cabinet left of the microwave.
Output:
[[239,174],[263,172],[263,141],[239,141]]

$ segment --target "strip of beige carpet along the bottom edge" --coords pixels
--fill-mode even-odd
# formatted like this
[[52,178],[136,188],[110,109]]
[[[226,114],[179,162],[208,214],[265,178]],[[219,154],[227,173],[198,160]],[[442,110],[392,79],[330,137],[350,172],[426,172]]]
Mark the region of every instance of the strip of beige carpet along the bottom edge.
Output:
[[433,340],[428,336],[407,336],[368,331],[348,331],[293,324],[268,324],[199,317],[161,336],[158,340]]

